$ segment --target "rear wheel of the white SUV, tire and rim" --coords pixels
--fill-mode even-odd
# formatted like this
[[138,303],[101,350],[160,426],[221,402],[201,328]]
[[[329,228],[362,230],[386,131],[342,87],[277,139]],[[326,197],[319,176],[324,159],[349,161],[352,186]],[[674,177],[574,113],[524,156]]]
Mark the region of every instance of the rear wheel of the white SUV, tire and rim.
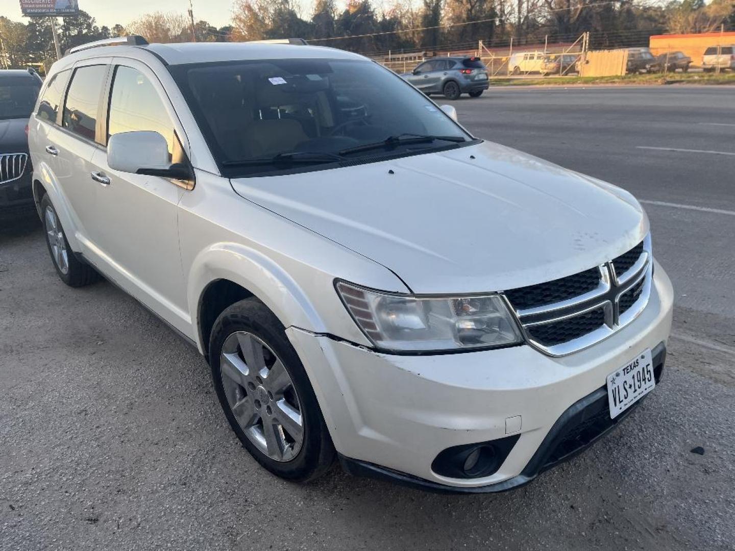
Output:
[[98,281],[100,275],[95,269],[77,259],[74,251],[71,250],[48,193],[45,193],[41,199],[41,222],[46,234],[46,245],[49,247],[51,262],[54,263],[54,268],[61,281],[69,287],[84,287]]

